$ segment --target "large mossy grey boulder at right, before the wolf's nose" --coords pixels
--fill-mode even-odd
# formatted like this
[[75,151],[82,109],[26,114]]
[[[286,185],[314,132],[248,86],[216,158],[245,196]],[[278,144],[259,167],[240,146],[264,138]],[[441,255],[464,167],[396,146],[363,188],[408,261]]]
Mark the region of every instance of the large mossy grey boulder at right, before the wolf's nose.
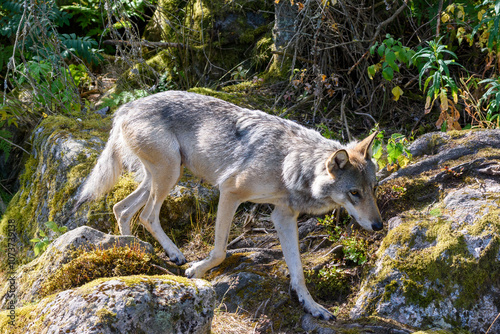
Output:
[[403,212],[350,314],[485,333],[500,312],[500,131],[429,134],[411,150],[416,163],[382,182]]

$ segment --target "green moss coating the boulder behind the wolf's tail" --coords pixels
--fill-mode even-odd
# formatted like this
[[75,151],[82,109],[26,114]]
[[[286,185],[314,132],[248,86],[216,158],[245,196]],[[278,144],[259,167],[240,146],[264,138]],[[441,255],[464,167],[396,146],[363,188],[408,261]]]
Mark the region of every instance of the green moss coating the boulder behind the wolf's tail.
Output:
[[[96,159],[95,153],[89,153],[93,152],[91,149],[88,152],[82,152],[77,158],[77,163],[70,162],[73,167],[67,174],[66,182],[58,191],[55,191],[56,178],[60,177],[58,168],[61,162],[56,163],[58,157],[52,156],[52,151],[47,149],[50,146],[44,146],[44,144],[71,137],[86,141],[90,146],[100,145],[107,140],[110,125],[109,118],[102,119],[96,115],[82,116],[79,119],[56,115],[47,117],[35,130],[36,135],[33,139],[35,155],[31,155],[26,161],[24,172],[19,178],[21,188],[9,203],[0,222],[0,235],[7,235],[9,220],[15,222],[15,233],[19,238],[16,254],[18,265],[33,259],[32,243],[29,240],[39,229],[44,229],[45,221],[39,221],[39,215],[42,214],[39,212],[40,204],[48,204],[47,220],[57,220],[58,215],[63,211],[69,198],[74,195],[81,180],[88,174]],[[97,143],[96,138],[102,142]],[[46,169],[42,170],[41,166],[46,166]],[[6,239],[0,242],[4,249],[5,243]],[[3,256],[1,254],[0,258]],[[6,261],[1,262],[2,266],[6,263]]]

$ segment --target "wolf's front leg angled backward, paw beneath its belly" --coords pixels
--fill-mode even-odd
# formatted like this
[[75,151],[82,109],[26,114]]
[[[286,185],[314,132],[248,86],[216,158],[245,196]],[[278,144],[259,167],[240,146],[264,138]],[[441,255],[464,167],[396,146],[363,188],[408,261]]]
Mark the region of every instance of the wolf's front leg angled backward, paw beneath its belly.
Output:
[[201,261],[195,262],[186,270],[189,278],[201,278],[205,273],[224,261],[226,258],[227,240],[233,216],[240,205],[234,194],[221,189],[217,218],[215,219],[215,243],[210,255]]

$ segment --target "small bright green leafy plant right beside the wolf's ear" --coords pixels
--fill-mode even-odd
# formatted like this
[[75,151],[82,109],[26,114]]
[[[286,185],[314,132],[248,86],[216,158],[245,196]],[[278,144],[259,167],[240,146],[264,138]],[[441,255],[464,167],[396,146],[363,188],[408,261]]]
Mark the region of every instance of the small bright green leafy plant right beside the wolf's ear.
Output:
[[406,167],[412,159],[408,139],[400,133],[394,133],[388,139],[384,150],[384,133],[382,130],[377,134],[372,147],[372,157],[379,168],[387,167],[389,171],[396,171]]

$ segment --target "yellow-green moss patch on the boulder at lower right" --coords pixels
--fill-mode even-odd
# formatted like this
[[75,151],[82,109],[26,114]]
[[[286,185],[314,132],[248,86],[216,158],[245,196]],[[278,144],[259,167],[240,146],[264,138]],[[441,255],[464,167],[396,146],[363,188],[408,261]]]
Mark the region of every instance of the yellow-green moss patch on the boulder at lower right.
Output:
[[[499,209],[491,210],[467,228],[471,235],[492,235],[479,259],[469,253],[464,234],[452,228],[453,222],[423,215],[405,217],[406,223],[391,230],[379,249],[379,254],[384,254],[390,245],[398,245],[394,258],[382,259],[386,271],[380,272],[373,284],[387,277],[387,270],[397,269],[405,275],[401,288],[408,302],[427,307],[458,293],[455,306],[472,307],[487,289],[500,287],[500,268],[495,260],[500,249],[499,215]],[[424,240],[415,240],[417,234],[411,233],[415,228],[425,232]],[[425,246],[414,248],[417,242]],[[426,285],[429,282],[431,287]],[[396,282],[391,282],[383,298],[387,300],[398,288]]]

